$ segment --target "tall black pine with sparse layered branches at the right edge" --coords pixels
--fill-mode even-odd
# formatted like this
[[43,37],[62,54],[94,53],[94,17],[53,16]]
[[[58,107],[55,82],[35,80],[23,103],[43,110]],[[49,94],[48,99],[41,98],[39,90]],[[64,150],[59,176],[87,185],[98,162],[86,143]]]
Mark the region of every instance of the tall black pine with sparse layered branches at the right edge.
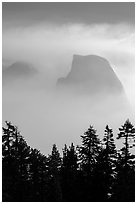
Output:
[[135,146],[135,128],[127,120],[119,128],[118,139],[124,139],[124,147],[120,150],[117,160],[117,179],[114,188],[113,201],[135,201],[135,165],[134,154],[130,149]]

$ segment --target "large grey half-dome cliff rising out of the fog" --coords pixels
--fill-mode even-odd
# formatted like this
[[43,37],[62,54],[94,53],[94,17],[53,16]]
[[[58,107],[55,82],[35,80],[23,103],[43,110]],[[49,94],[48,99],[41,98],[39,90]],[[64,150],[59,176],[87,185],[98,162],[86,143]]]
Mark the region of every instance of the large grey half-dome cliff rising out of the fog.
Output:
[[80,92],[121,93],[123,87],[109,62],[96,55],[74,55],[71,71],[58,85]]

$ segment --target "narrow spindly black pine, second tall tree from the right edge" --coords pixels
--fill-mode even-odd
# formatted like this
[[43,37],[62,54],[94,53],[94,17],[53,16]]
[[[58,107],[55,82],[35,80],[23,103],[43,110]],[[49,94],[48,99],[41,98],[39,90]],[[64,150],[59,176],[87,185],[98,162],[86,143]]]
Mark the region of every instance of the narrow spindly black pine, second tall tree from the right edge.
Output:
[[[112,196],[113,185],[116,177],[117,151],[113,139],[113,131],[107,125],[103,138],[103,149],[100,154],[100,171],[102,171],[102,181],[104,183],[104,198],[106,201]],[[98,166],[99,168],[99,166]]]

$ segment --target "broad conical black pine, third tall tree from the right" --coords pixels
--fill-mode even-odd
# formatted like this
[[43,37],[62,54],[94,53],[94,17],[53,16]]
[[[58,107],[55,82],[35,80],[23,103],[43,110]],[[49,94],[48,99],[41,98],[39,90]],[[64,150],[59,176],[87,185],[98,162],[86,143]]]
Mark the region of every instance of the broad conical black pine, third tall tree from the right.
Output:
[[83,172],[83,184],[84,184],[84,196],[85,201],[96,201],[98,197],[96,194],[99,193],[96,187],[95,181],[95,167],[97,165],[98,156],[101,151],[101,142],[96,134],[96,130],[93,126],[84,133],[82,138],[82,145],[80,147],[80,169]]

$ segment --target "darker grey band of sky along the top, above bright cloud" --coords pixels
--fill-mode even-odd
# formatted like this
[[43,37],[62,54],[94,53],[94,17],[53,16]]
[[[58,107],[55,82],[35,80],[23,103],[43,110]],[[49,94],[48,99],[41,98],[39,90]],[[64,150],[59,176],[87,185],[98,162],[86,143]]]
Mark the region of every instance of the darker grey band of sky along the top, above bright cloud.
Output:
[[5,2],[3,26],[27,26],[42,22],[134,24],[134,3],[129,2]]

